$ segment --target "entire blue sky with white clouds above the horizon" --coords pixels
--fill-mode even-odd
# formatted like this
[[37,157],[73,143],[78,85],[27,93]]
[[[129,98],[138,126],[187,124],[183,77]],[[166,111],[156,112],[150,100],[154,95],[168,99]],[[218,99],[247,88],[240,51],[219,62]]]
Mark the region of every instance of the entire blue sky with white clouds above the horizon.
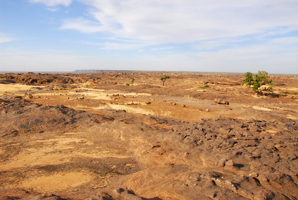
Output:
[[298,0],[0,0],[0,71],[298,74]]

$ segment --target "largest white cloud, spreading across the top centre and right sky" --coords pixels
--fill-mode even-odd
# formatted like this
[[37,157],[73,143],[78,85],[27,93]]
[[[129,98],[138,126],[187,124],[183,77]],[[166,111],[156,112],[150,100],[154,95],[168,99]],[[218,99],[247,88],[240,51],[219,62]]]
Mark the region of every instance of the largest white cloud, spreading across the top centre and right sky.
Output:
[[279,34],[298,28],[296,0],[80,1],[91,7],[89,19],[68,19],[61,28],[153,44]]

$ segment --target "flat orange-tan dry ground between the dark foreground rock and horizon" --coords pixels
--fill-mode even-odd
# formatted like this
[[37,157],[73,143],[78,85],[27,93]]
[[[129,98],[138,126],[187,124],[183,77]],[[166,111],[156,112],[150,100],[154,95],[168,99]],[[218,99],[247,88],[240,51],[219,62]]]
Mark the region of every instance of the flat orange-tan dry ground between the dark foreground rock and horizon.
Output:
[[[71,86],[74,89],[54,84],[52,90],[36,90],[32,86],[19,84],[1,85],[0,94],[13,92],[15,95],[24,96],[28,93],[32,94],[33,98],[26,96],[27,100],[41,104],[63,104],[90,112],[100,112],[100,109],[107,108],[122,109],[130,113],[169,116],[185,121],[220,115],[236,118],[244,115],[247,108],[292,110],[280,114],[297,119],[295,106],[298,100],[291,99],[298,97],[297,76],[272,76],[275,93],[283,95],[279,98],[255,96],[252,91],[247,91],[240,85],[243,75],[238,74],[176,73],[171,74],[171,79],[166,80],[165,86],[161,86],[159,76],[161,75],[97,75],[95,79],[89,79],[94,77],[84,75],[84,79],[73,77],[74,83]],[[131,82],[131,77],[136,79],[134,84],[125,86]],[[209,88],[200,88],[205,85]],[[218,105],[213,102],[216,98],[227,100],[230,105]],[[146,104],[147,102],[150,104]],[[172,102],[176,105],[171,104]],[[186,106],[182,107],[183,104]],[[207,108],[210,109],[209,112],[206,111]]]

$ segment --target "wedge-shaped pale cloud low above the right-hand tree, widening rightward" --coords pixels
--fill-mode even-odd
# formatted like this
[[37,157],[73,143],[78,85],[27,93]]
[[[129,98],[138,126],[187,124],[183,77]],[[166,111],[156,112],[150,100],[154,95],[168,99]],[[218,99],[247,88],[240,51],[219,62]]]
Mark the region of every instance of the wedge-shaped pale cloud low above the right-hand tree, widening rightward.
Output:
[[276,38],[263,43],[234,46],[217,52],[196,52],[201,66],[223,72],[298,74],[298,37]]

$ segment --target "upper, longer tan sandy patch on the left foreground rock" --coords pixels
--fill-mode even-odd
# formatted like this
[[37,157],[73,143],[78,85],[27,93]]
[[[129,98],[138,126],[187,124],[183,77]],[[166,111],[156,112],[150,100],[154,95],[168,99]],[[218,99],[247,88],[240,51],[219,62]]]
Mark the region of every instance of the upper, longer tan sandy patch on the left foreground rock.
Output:
[[[73,133],[67,133],[73,134]],[[37,140],[31,143],[30,148],[25,148],[18,155],[6,162],[0,163],[0,170],[59,165],[71,162],[74,158],[127,158],[126,152],[122,149],[102,149],[97,147],[89,148],[92,141],[80,138],[52,138]],[[1,150],[1,149],[0,149]],[[0,153],[4,153],[3,150]]]

